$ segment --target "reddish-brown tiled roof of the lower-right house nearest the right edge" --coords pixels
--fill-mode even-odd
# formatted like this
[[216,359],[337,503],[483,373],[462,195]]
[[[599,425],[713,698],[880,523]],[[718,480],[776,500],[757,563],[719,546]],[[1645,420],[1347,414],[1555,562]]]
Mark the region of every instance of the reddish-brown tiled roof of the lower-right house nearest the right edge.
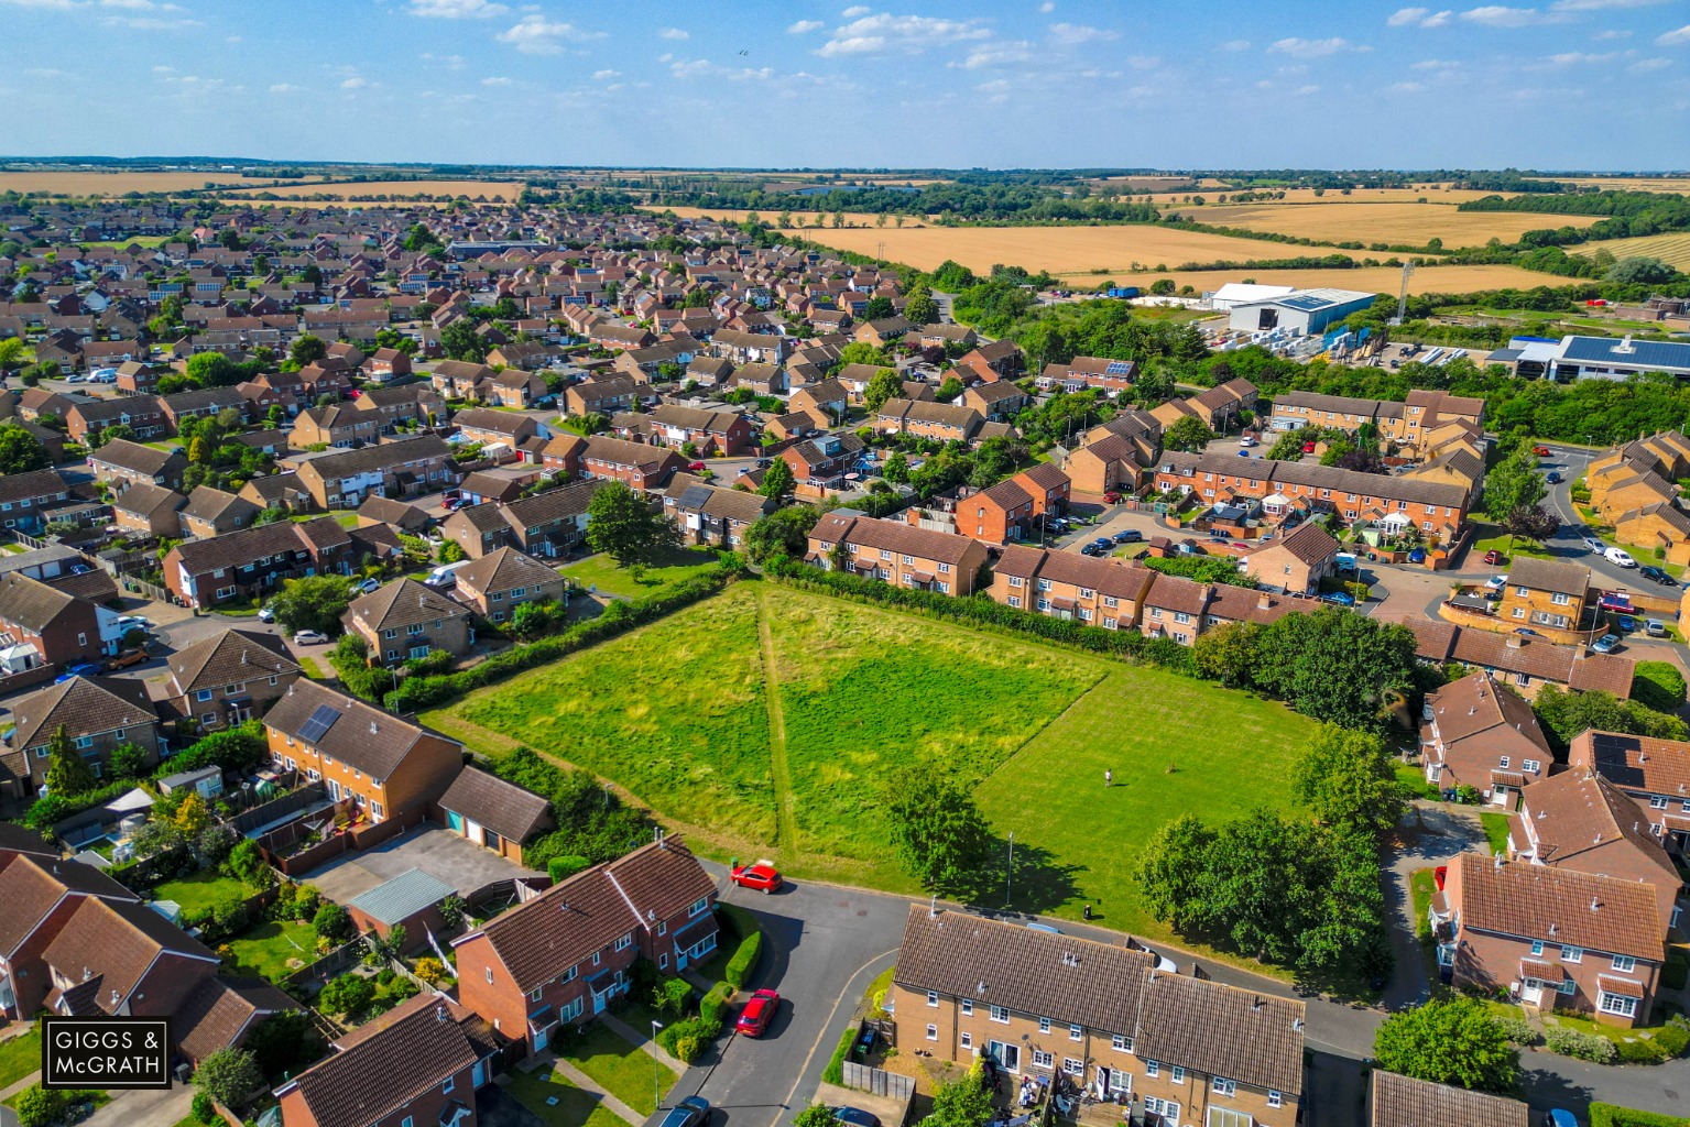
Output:
[[1464,928],[1656,963],[1663,958],[1653,885],[1479,853],[1460,853],[1453,863],[1460,865],[1453,907]]

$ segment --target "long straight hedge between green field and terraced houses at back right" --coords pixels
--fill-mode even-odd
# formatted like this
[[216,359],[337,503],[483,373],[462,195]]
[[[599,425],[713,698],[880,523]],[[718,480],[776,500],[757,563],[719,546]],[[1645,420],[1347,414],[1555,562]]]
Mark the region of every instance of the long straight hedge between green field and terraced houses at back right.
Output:
[[1188,647],[1180,645],[1173,639],[1144,637],[1137,630],[1105,630],[1104,627],[1088,627],[1073,620],[1051,618],[1031,610],[1016,610],[1014,607],[994,603],[984,595],[957,598],[940,595],[938,591],[916,591],[906,586],[892,586],[880,580],[865,580],[845,571],[821,571],[794,559],[771,559],[764,564],[764,574],[803,590],[828,591],[830,595],[880,603],[882,607],[918,610],[935,618],[950,618],[975,627],[995,627],[999,630],[1029,634],[1046,642],[1073,645],[1093,654],[1124,657],[1146,666],[1159,666],[1175,672],[1197,676],[1197,666],[1191,662],[1191,651]]

